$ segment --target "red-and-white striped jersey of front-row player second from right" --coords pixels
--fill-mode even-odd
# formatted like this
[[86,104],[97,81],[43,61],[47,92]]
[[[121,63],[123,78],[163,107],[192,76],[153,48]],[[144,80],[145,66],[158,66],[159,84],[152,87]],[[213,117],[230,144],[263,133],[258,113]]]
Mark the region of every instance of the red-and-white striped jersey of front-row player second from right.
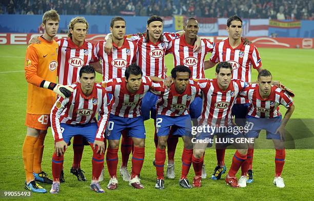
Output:
[[247,86],[239,79],[231,79],[229,87],[224,91],[219,88],[217,79],[199,79],[199,86],[203,92],[203,107],[199,117],[199,124],[210,126],[231,126],[231,108],[235,97]]

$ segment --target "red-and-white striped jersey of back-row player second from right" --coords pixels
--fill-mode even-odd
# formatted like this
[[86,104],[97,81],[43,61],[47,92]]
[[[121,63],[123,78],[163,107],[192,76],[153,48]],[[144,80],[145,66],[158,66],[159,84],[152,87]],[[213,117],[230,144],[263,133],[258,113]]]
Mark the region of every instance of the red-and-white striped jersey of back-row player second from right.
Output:
[[191,77],[195,79],[205,78],[204,59],[208,52],[212,52],[214,44],[208,39],[201,40],[201,49],[193,52],[194,45],[185,41],[185,34],[172,41],[167,53],[173,54],[174,66],[184,65],[191,70]]

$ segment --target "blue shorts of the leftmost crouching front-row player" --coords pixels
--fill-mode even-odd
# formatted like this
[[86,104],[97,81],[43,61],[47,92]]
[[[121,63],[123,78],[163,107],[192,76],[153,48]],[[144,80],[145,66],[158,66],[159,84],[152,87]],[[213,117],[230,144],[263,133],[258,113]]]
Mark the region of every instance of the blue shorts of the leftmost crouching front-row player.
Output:
[[96,132],[98,129],[97,123],[79,125],[61,123],[60,126],[61,129],[63,130],[62,132],[63,140],[67,144],[74,135],[82,135],[87,139],[88,142],[94,143]]

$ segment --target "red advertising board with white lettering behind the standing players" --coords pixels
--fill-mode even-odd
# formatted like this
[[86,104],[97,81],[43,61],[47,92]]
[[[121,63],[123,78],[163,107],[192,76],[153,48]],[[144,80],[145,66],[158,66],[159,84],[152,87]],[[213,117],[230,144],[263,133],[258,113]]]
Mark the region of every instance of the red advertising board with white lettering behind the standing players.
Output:
[[[32,37],[38,37],[38,33],[0,33],[0,45],[27,45]],[[105,38],[106,34],[88,34],[86,40],[97,43]],[[67,37],[67,34],[58,34],[56,38]],[[201,36],[202,37],[202,36]],[[207,36],[210,41],[217,43],[226,37]],[[291,37],[248,37],[258,48],[303,48],[314,49],[314,38]]]

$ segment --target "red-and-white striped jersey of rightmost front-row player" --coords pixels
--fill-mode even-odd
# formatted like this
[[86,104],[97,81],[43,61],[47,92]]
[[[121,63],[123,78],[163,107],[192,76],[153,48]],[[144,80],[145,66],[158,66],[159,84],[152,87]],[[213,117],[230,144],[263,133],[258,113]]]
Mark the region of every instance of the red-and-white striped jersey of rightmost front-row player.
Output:
[[289,108],[293,105],[292,98],[280,87],[272,86],[268,98],[263,99],[259,92],[259,85],[252,84],[247,86],[241,93],[250,100],[248,114],[257,118],[274,118],[281,116],[279,105]]

